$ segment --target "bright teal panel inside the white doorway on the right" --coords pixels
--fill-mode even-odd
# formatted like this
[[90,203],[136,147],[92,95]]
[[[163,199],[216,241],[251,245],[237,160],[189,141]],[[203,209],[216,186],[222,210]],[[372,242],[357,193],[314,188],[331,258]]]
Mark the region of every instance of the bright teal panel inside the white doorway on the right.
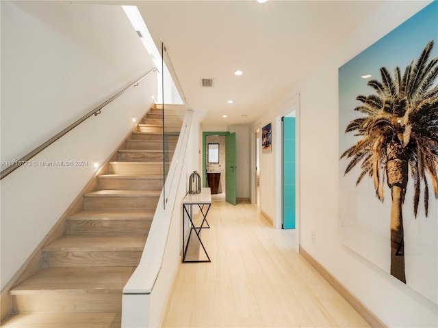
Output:
[[283,229],[295,229],[295,118],[283,118]]

